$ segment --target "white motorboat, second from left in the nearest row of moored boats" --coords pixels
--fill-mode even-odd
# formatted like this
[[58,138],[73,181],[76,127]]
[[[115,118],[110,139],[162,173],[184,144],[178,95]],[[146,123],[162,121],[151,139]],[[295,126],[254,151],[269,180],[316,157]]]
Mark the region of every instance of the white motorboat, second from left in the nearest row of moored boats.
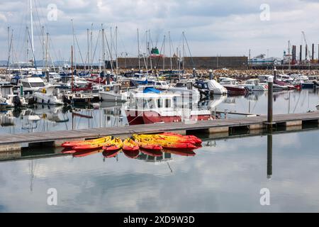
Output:
[[33,100],[38,104],[63,105],[62,96],[57,86],[49,85],[33,92]]

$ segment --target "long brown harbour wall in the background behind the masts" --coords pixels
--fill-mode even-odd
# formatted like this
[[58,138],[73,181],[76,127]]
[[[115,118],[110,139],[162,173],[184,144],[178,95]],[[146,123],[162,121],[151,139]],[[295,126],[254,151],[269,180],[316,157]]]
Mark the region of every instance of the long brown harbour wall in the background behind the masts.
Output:
[[[179,66],[180,64],[180,66]],[[184,62],[179,62],[177,57],[152,57],[147,60],[140,58],[140,66],[150,69],[157,67],[157,69],[170,69],[171,65],[173,69],[179,69],[183,67],[185,69],[206,69],[206,70],[215,70],[218,68],[228,68],[228,69],[247,69],[248,58],[247,57],[184,57]],[[118,67],[120,68],[138,68],[139,59],[138,57],[120,57],[118,58]]]

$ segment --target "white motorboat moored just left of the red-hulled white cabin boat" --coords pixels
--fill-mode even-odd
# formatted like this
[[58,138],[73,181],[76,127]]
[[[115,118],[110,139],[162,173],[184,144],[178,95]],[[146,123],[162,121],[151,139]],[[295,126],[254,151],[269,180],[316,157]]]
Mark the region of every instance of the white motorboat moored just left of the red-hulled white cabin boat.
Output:
[[121,84],[106,85],[104,86],[104,90],[99,92],[99,94],[102,101],[128,101],[128,94],[126,92],[122,92]]

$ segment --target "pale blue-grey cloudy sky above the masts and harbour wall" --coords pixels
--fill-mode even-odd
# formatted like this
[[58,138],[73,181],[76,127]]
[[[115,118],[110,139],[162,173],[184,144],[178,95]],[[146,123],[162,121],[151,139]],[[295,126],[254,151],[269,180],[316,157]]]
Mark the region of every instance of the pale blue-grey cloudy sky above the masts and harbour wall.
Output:
[[[0,60],[6,60],[8,55],[8,26],[13,29],[14,55],[20,60],[26,58],[26,26],[30,27],[28,1],[1,1],[0,46],[6,51],[0,52]],[[159,48],[164,35],[171,31],[174,49],[181,47],[184,31],[194,56],[248,55],[251,49],[253,56],[269,52],[269,56],[282,57],[288,48],[288,40],[293,45],[304,44],[301,31],[305,31],[308,43],[319,43],[318,0],[33,0],[33,6],[37,59],[42,56],[41,26],[50,33],[52,57],[69,59],[71,19],[82,58],[86,57],[86,29],[91,28],[92,23],[93,49],[101,23],[108,38],[110,28],[114,31],[118,26],[119,55],[123,52],[137,55],[138,28],[141,49],[145,49],[145,31],[148,29],[153,45]],[[100,46],[99,43],[96,56],[101,53]]]

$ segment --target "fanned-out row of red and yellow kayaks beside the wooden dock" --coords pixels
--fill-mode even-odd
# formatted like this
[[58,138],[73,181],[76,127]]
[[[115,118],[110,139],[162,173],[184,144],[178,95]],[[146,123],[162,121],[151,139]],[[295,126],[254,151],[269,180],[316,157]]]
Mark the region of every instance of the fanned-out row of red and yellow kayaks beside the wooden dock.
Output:
[[194,150],[201,147],[201,139],[194,135],[179,135],[177,133],[135,134],[132,138],[121,140],[111,136],[95,140],[71,141],[62,144],[66,148],[64,153],[104,151],[106,157],[114,157],[120,150],[130,152],[135,157],[139,150],[161,153],[162,150]]

